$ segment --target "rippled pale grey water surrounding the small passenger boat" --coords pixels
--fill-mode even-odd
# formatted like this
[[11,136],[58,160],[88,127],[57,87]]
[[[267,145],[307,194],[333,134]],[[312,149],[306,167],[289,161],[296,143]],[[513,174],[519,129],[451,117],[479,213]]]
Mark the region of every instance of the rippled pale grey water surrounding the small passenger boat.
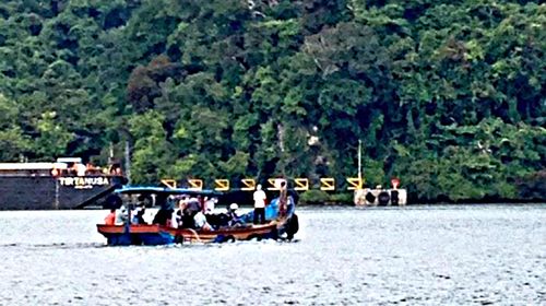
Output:
[[296,243],[105,247],[0,212],[0,305],[546,305],[546,204],[300,209]]

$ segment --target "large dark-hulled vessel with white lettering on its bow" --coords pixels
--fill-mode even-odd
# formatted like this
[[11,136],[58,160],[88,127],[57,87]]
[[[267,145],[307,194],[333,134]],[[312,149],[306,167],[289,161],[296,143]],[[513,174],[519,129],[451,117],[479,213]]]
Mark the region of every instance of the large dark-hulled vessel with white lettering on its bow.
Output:
[[70,210],[94,204],[127,183],[119,165],[107,174],[80,157],[0,163],[0,210]]

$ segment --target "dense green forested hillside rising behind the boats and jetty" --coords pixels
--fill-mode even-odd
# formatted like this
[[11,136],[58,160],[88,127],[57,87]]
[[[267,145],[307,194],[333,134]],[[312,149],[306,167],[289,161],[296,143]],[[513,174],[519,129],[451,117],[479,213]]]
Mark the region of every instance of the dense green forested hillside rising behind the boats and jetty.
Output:
[[3,0],[0,161],[546,199],[541,2]]

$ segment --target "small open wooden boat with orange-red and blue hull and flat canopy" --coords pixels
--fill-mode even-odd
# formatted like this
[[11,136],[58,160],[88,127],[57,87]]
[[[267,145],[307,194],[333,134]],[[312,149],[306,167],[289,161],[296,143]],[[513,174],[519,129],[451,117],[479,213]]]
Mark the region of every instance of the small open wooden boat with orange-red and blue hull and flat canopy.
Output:
[[[248,192],[248,191],[247,191]],[[209,195],[217,196],[221,199],[226,196],[211,190],[191,190],[183,188],[156,188],[156,187],[131,187],[117,190],[120,195],[153,195],[155,203],[165,205],[168,196],[173,195]],[[233,196],[225,197],[233,199]],[[271,220],[266,224],[251,224],[253,212],[240,216],[242,225],[221,226],[212,231],[176,228],[166,224],[97,224],[97,231],[107,238],[108,245],[169,245],[183,243],[224,243],[250,239],[277,239],[286,236],[292,239],[298,231],[298,220],[295,214],[295,197],[288,197],[288,211],[286,216],[277,215],[277,199],[271,201],[265,209],[265,216]],[[219,201],[222,203],[222,200]]]

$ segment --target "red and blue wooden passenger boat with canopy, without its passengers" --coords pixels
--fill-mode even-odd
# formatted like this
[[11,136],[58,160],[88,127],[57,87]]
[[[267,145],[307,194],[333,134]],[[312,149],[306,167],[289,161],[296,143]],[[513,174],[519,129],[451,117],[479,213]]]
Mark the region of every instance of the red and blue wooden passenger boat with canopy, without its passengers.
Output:
[[[214,190],[194,190],[187,188],[165,187],[124,187],[115,190],[120,201],[112,201],[111,209],[126,209],[131,211],[136,202],[145,207],[159,207],[174,213],[173,199],[180,196],[216,198],[217,207],[228,205],[233,199],[248,199],[249,191],[217,192]],[[295,213],[297,196],[292,192],[287,199],[287,213],[278,215],[278,198],[273,199],[265,208],[265,224],[252,224],[253,211],[239,216],[241,223],[227,226],[214,224],[212,229],[177,228],[165,224],[131,224],[129,213],[122,224],[97,224],[97,232],[106,237],[110,246],[127,245],[170,245],[185,243],[224,243],[250,239],[292,239],[298,232],[298,216]],[[251,202],[247,202],[250,205]],[[222,213],[211,213],[209,220]]]

